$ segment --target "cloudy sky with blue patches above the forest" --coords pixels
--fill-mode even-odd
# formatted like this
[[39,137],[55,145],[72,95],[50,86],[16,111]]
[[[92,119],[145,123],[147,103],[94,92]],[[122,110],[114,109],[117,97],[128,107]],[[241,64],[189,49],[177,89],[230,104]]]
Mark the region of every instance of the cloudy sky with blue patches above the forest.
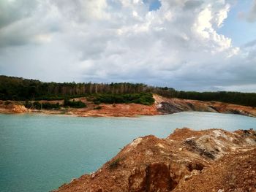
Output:
[[256,92],[256,0],[0,0],[0,74]]

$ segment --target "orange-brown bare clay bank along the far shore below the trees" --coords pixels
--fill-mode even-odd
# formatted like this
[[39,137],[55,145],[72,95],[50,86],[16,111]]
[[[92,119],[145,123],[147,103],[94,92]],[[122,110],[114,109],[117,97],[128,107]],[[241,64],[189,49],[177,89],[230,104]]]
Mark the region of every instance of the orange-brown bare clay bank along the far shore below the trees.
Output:
[[[166,115],[184,111],[220,112],[256,117],[255,107],[246,107],[237,104],[227,104],[218,101],[197,101],[188,99],[167,99],[154,94],[154,104],[94,104],[86,98],[76,98],[83,101],[87,107],[75,109],[61,107],[59,110],[31,110],[24,107],[24,101],[0,101],[1,113],[42,112],[53,115],[75,115],[81,117],[136,117],[138,115]],[[61,104],[64,101],[39,101]]]

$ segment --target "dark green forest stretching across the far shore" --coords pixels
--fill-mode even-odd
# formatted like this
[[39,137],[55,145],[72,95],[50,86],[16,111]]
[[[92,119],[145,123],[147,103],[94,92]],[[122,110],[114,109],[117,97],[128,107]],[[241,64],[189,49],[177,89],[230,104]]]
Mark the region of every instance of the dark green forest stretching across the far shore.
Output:
[[[151,94],[146,94],[151,93]],[[230,91],[196,92],[176,91],[143,83],[112,82],[41,82],[21,77],[0,76],[1,100],[56,100],[80,96],[94,96],[95,102],[152,104],[152,93],[167,98],[193,99],[200,101],[222,101],[232,104],[256,107],[256,93]],[[153,99],[153,100],[152,100]]]

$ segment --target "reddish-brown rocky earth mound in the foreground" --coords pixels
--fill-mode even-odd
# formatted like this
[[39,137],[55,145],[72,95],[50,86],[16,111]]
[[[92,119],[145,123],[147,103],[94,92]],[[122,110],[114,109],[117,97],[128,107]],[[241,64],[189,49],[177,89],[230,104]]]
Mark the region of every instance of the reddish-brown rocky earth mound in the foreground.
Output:
[[[72,180],[57,191],[203,192],[236,186],[253,191],[255,152],[254,130],[176,129],[166,139],[152,135],[135,139],[97,172]],[[244,177],[249,180],[244,182]]]

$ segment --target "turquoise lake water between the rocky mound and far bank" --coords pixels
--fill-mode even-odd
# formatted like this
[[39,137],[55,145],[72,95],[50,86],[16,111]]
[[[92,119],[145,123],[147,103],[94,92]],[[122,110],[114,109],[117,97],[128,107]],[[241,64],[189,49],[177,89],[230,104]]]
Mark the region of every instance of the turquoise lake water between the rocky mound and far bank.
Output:
[[0,115],[0,191],[51,191],[96,171],[136,137],[175,128],[256,128],[256,118],[181,112],[140,118]]

